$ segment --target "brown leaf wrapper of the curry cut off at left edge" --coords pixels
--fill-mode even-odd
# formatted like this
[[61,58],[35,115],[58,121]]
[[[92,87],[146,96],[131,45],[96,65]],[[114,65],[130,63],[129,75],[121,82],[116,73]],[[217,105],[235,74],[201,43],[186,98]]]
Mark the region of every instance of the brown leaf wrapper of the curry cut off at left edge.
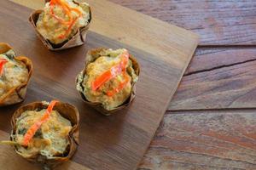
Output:
[[32,77],[32,61],[25,56],[15,56],[15,52],[7,43],[0,42],[0,54],[6,55],[9,59],[22,62],[26,65],[28,71],[26,82],[10,88],[7,92],[0,96],[0,106],[14,105],[22,102],[26,97],[26,88]]

